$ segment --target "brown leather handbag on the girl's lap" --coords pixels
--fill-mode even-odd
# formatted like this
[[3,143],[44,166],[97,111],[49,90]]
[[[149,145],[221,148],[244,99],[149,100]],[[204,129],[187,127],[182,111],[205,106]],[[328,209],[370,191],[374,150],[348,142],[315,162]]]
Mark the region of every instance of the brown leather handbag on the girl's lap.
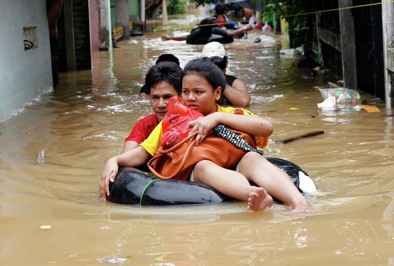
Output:
[[[244,139],[251,147],[256,148],[252,135],[232,128],[228,129]],[[198,131],[193,132],[169,149],[159,148],[155,151],[154,157],[148,162],[152,174],[161,179],[189,180],[194,165],[202,160],[209,160],[224,168],[232,169],[247,152],[223,137],[214,135],[212,131],[202,143],[195,146],[197,134]]]

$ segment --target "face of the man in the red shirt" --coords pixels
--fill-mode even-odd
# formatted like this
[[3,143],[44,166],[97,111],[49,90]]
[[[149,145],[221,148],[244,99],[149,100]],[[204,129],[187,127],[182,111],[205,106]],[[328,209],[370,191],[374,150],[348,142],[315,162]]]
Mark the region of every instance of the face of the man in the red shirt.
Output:
[[149,100],[157,119],[162,121],[167,112],[167,103],[171,97],[178,96],[172,85],[163,81],[150,88]]

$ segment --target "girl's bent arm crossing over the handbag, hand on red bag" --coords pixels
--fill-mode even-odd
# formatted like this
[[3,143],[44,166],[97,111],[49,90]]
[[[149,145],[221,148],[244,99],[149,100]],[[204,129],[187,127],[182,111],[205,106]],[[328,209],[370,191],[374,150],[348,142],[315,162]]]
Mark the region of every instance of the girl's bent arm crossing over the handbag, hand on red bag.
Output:
[[225,124],[256,137],[268,137],[273,132],[272,124],[268,120],[260,117],[234,115],[225,112],[211,113],[206,117],[191,121],[187,127],[193,127],[190,134],[199,130],[199,134],[195,138],[195,144],[198,145],[203,141],[208,131],[218,124]]

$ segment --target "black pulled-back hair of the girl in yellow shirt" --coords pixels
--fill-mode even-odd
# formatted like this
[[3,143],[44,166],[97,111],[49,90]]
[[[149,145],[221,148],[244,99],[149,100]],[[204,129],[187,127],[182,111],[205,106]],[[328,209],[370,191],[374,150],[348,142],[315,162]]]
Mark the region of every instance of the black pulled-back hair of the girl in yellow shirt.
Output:
[[201,75],[209,84],[211,84],[213,89],[216,89],[219,86],[222,87],[222,94],[220,97],[220,100],[222,100],[223,92],[226,88],[226,77],[222,70],[220,70],[220,68],[211,60],[208,58],[199,58],[190,61],[183,69],[183,75],[185,76],[187,74]]

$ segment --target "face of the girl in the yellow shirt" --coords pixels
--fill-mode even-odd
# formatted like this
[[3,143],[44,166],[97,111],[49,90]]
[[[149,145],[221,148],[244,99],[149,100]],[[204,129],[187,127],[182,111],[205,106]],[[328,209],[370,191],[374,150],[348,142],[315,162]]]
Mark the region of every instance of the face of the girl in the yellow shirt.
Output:
[[182,80],[182,101],[187,107],[198,110],[204,116],[216,111],[222,88],[212,85],[199,74],[186,74]]

